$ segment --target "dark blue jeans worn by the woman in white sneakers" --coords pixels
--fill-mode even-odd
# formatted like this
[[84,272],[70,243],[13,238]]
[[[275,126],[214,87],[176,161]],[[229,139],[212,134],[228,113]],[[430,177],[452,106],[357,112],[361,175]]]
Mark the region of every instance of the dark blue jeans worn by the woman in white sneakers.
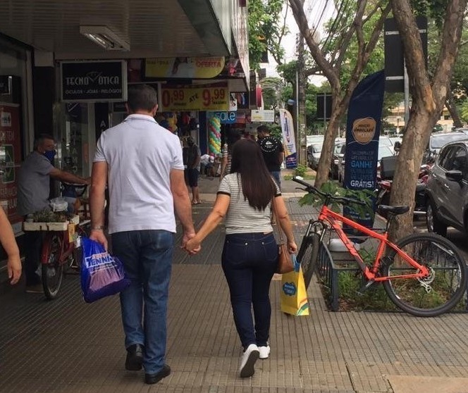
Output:
[[270,331],[270,282],[278,262],[273,233],[226,235],[221,261],[242,347],[265,346]]

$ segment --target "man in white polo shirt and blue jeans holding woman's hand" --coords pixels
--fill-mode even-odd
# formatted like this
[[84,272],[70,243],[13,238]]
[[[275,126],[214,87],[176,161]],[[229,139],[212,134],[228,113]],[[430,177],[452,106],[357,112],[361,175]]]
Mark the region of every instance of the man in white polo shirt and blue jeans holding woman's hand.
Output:
[[112,251],[131,281],[121,292],[125,368],[143,366],[148,384],[171,373],[165,356],[174,211],[183,227],[182,245],[195,236],[180,141],[154,120],[156,97],[147,85],[129,87],[129,116],[101,134],[90,189],[90,238],[107,247],[104,190],[109,184]]

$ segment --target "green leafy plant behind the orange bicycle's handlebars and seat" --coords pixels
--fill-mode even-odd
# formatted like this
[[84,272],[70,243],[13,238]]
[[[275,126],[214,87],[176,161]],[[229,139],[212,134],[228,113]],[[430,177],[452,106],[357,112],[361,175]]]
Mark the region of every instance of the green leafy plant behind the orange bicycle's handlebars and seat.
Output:
[[[375,194],[369,189],[346,189],[341,187],[338,184],[338,182],[328,181],[321,186],[320,191],[335,197],[343,196],[346,198],[357,199],[358,201],[362,201],[366,204],[365,206],[360,204],[352,204],[350,205],[350,207],[352,207],[352,210],[355,211],[357,216],[361,218],[365,218],[368,215],[374,216],[374,209],[371,203],[371,198],[373,198]],[[314,207],[319,208],[322,206],[322,204],[324,204],[324,200],[324,196],[309,192],[302,196],[302,198],[299,200],[299,204],[300,206],[312,205]],[[331,201],[331,210],[339,213],[341,211],[341,206],[342,204],[340,204],[339,202]]]

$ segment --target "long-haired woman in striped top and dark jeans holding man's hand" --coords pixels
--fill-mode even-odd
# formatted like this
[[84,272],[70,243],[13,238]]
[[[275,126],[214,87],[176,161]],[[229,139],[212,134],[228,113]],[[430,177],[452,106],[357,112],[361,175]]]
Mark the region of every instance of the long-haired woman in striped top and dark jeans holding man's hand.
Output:
[[221,266],[244,349],[242,378],[253,375],[257,358],[270,354],[269,288],[278,263],[278,246],[270,223],[272,206],[285,232],[288,251],[293,254],[297,245],[279,187],[266,168],[257,142],[241,139],[233,145],[231,173],[221,180],[211,213],[197,235],[185,244],[188,252],[198,251],[203,239],[226,217]]

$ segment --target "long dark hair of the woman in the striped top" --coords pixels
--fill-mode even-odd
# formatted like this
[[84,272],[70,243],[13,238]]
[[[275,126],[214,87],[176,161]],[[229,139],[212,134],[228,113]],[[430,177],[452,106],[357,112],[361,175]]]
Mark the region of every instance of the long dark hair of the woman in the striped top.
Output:
[[264,210],[276,195],[276,183],[261,154],[260,146],[252,139],[240,139],[233,144],[230,173],[238,173],[244,198],[250,206]]

